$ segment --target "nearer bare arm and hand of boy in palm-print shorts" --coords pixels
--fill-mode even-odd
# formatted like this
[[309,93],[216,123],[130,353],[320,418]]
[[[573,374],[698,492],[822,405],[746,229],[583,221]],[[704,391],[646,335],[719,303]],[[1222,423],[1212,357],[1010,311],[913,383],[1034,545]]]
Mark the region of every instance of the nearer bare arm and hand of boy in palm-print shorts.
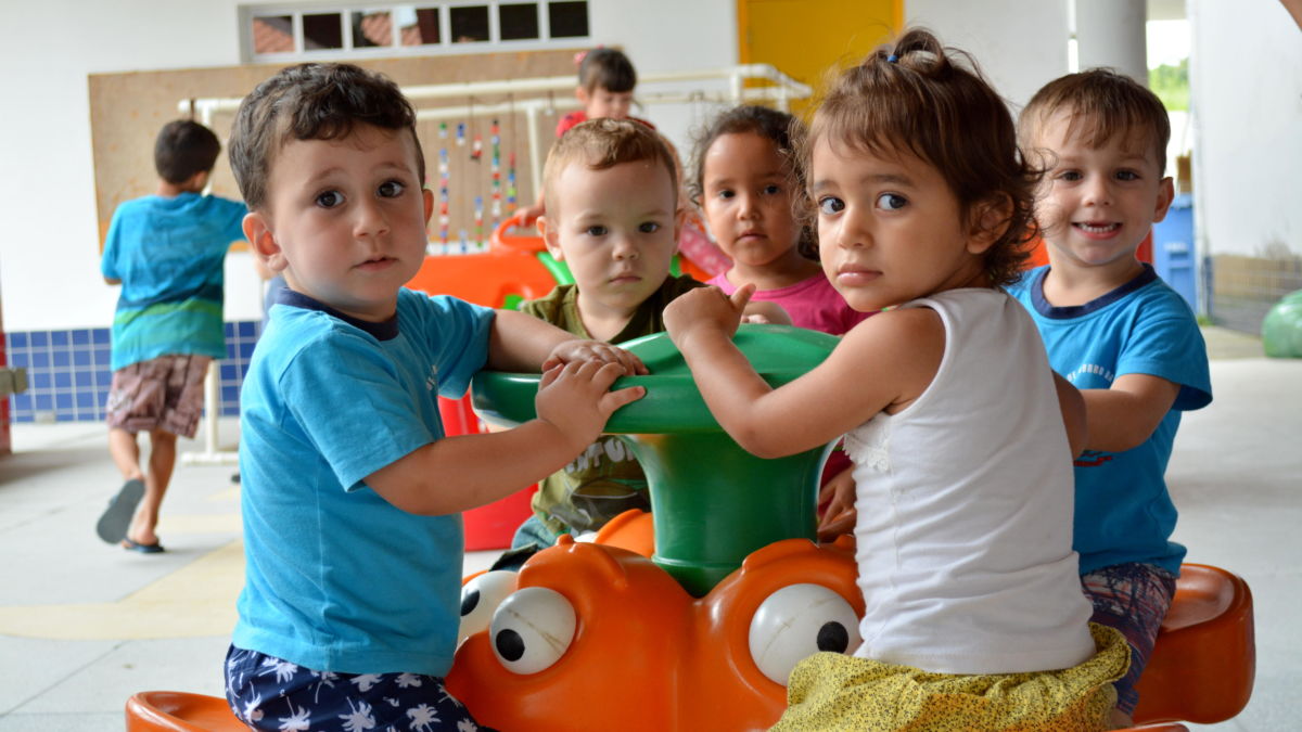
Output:
[[536,419],[430,443],[371,473],[366,485],[397,508],[424,516],[510,495],[564,468],[596,440],[612,412],[642,397],[642,387],[608,391],[622,374],[620,363],[555,366],[539,383]]

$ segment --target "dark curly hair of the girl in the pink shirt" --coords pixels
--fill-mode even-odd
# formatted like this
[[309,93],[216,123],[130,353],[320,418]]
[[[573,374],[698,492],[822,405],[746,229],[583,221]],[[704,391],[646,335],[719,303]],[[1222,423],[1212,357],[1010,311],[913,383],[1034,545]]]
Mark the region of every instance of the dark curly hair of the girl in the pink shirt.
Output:
[[[700,197],[706,190],[706,154],[716,139],[725,134],[758,134],[773,143],[777,155],[786,163],[786,173],[790,176],[792,206],[801,207],[801,198],[805,195],[805,185],[799,176],[799,167],[796,164],[796,151],[793,147],[793,134],[798,137],[805,125],[792,115],[780,112],[759,104],[742,104],[730,109],[724,109],[695,138],[691,150],[691,173],[687,178],[687,195],[699,208]],[[810,225],[807,216],[798,216],[801,236],[796,250],[806,259],[818,260],[818,234]]]

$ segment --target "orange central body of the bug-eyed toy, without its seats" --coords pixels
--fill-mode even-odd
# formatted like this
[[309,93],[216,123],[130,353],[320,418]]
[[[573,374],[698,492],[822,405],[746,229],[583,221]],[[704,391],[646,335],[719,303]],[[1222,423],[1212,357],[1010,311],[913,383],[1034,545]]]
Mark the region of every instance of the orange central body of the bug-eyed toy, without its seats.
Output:
[[517,591],[546,587],[573,606],[578,625],[564,655],[514,673],[490,633],[477,633],[457,650],[447,686],[497,729],[766,728],[785,709],[786,689],[750,660],[751,617],[799,582],[829,587],[862,613],[854,578],[844,550],[788,539],[698,599],[644,556],[561,537],[521,568]]

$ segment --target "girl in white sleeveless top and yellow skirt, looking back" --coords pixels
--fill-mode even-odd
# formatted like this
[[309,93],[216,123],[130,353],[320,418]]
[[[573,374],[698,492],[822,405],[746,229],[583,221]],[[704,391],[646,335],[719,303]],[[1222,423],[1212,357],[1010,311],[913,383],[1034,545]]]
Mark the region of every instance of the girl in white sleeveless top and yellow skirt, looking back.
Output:
[[1000,289],[1027,255],[1034,173],[963,57],[906,33],[841,74],[799,145],[823,270],[881,311],[822,365],[776,389],[755,374],[730,340],[754,285],[665,311],[742,447],[846,434],[854,460],[863,641],[796,666],[776,729],[1104,729],[1125,672],[1070,546],[1083,405]]

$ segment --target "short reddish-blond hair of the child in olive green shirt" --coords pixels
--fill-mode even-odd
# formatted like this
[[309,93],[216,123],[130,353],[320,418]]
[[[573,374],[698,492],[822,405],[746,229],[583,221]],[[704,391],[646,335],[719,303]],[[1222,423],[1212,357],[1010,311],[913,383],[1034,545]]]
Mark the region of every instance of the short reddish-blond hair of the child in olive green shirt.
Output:
[[678,199],[678,159],[660,133],[643,122],[602,117],[574,125],[547,152],[543,164],[543,195],[548,211],[556,211],[556,178],[572,163],[590,171],[605,171],[621,163],[659,163],[669,172],[674,203]]

